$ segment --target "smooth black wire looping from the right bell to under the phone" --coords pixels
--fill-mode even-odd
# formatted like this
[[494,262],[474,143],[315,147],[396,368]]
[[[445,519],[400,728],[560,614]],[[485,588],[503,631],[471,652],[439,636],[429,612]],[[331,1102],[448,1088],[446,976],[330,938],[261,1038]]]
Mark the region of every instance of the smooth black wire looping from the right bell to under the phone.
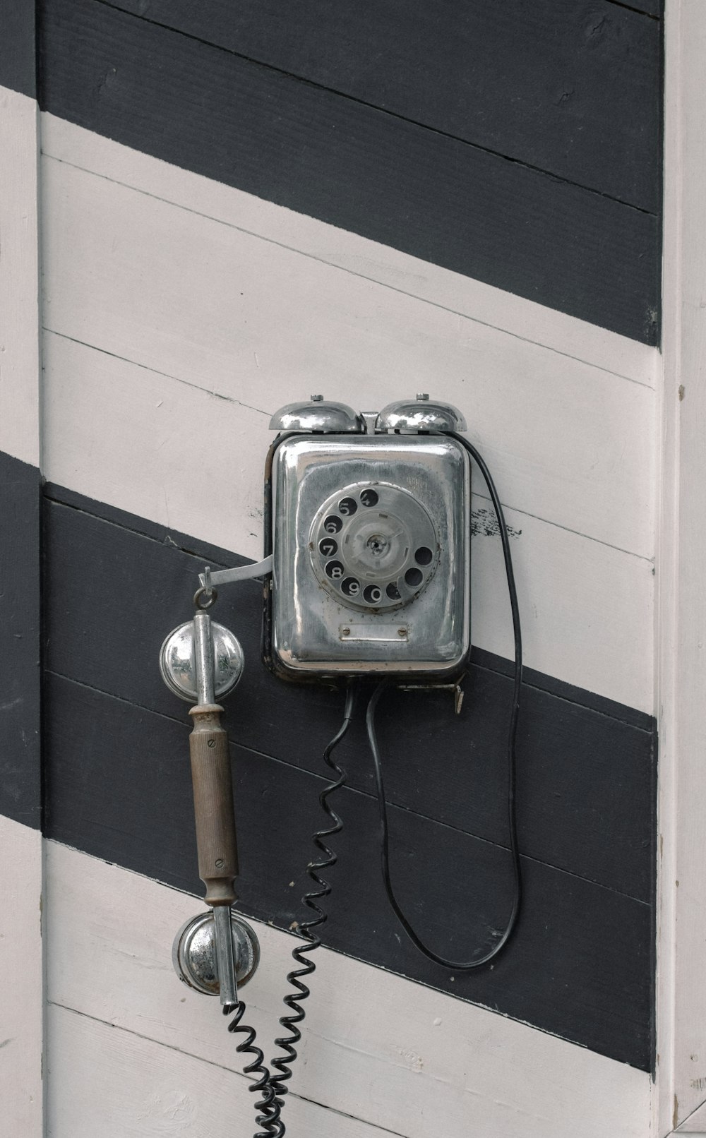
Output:
[[512,571],[512,555],[510,552],[510,539],[508,537],[508,528],[504,520],[504,513],[502,505],[500,503],[500,497],[498,496],[498,490],[495,489],[495,484],[491,477],[491,472],[487,469],[482,455],[475,448],[475,446],[463,438],[461,435],[457,435],[455,431],[449,431],[452,438],[455,438],[461,446],[465,446],[469,454],[475,459],[477,465],[481,469],[481,473],[485,479],[487,485],[491,501],[493,503],[493,509],[495,510],[495,516],[498,518],[498,527],[500,529],[500,538],[502,542],[502,553],[504,558],[506,575],[508,578],[508,592],[510,594],[510,608],[512,610],[512,630],[515,636],[515,676],[512,685],[512,709],[510,714],[510,728],[508,733],[508,827],[510,836],[510,856],[512,859],[512,873],[515,877],[515,897],[512,900],[512,909],[508,918],[508,923],[502,932],[502,935],[498,942],[483,956],[477,957],[474,960],[448,960],[445,957],[440,956],[434,953],[418,933],[414,931],[407,916],[400,907],[400,902],[395,897],[392,879],[389,874],[389,827],[387,823],[387,806],[385,801],[385,784],[383,781],[383,764],[380,759],[380,752],[377,743],[377,736],[375,732],[375,712],[380,699],[380,695],[386,687],[389,686],[389,681],[384,679],[383,683],[378,684],[375,692],[370,698],[368,703],[368,711],[366,714],[366,725],[368,728],[368,742],[370,744],[370,752],[372,754],[372,761],[375,766],[375,782],[378,795],[378,809],[380,818],[380,861],[383,868],[383,882],[385,885],[385,892],[387,893],[387,899],[392,905],[400,924],[404,929],[405,933],[412,941],[412,943],[424,953],[428,959],[434,960],[435,964],[441,964],[443,967],[452,968],[454,972],[468,972],[473,968],[479,968],[482,965],[487,964],[492,960],[502,948],[507,945],[508,940],[512,935],[512,931],[517,924],[517,918],[519,916],[519,910],[522,906],[523,898],[523,881],[522,881],[522,867],[519,863],[519,851],[517,848],[517,819],[516,819],[516,782],[517,782],[517,762],[516,762],[516,740],[517,740],[517,720],[519,715],[519,696],[522,691],[523,682],[523,644],[522,644],[522,630],[519,624],[519,605],[517,603],[517,588],[515,585],[515,574]]

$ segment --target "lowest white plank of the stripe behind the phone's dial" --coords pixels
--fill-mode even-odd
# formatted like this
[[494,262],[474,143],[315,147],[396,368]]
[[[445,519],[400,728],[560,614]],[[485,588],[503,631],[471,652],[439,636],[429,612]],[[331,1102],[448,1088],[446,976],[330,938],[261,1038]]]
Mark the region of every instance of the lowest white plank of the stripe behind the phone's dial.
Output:
[[[262,555],[265,414],[54,333],[44,368],[50,480],[254,560]],[[504,500],[500,479],[499,487]],[[491,510],[478,497],[474,508]],[[522,530],[512,551],[526,662],[651,711],[650,562],[514,510],[507,518]],[[473,582],[473,641],[510,657],[496,537],[474,541]]]

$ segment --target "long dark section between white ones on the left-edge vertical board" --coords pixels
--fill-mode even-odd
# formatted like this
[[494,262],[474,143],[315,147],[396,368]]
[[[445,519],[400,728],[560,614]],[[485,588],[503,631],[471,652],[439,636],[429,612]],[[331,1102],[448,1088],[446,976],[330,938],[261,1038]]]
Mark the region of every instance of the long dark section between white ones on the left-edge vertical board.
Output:
[[0,814],[41,826],[40,476],[0,452]]

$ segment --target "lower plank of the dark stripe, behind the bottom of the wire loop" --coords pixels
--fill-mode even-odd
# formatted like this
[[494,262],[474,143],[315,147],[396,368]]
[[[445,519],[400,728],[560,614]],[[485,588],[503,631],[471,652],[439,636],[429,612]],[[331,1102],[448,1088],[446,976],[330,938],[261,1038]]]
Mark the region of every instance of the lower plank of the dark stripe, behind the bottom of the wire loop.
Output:
[[[48,836],[200,893],[187,718],[186,707],[175,721],[48,675]],[[325,724],[309,725],[313,752],[327,735]],[[239,907],[288,929],[303,916],[303,868],[321,824],[323,784],[245,748],[232,745],[232,759]],[[340,860],[325,943],[649,1067],[649,906],[526,860],[526,902],[511,946],[492,970],[449,974],[413,949],[386,902],[373,799],[345,790],[336,806],[345,828],[335,841]],[[510,906],[507,851],[407,810],[392,810],[392,828],[393,873],[420,932],[451,956],[486,946]]]

